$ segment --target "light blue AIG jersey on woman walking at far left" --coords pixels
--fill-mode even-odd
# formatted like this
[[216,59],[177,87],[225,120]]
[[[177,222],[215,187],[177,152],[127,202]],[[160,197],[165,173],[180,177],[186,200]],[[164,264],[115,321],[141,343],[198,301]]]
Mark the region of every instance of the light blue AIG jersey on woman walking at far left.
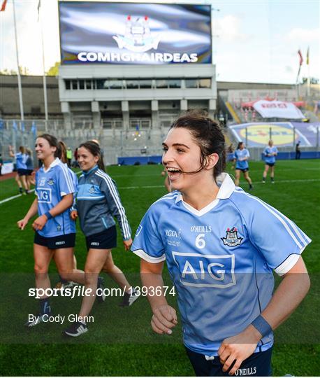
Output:
[[[42,166],[36,172],[36,195],[38,197],[39,216],[50,211],[62,200],[64,195],[75,193],[71,173],[64,163],[58,158],[54,160],[49,169]],[[75,222],[70,218],[70,211],[51,218],[45,223],[45,227],[38,231],[43,237],[56,237],[75,232]]]

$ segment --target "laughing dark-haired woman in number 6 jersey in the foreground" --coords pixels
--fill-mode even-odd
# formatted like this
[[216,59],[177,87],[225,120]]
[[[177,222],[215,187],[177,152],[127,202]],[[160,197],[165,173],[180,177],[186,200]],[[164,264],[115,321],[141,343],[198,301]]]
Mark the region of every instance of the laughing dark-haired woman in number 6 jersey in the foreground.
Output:
[[[235,186],[223,173],[224,148],[219,126],[206,116],[187,113],[173,123],[162,158],[173,192],[147,211],[131,251],[141,258],[152,329],[170,335],[177,315],[164,290],[159,295],[166,260],[196,375],[268,376],[272,330],[310,286],[300,257],[310,239]],[[272,270],[282,276],[273,295]]]

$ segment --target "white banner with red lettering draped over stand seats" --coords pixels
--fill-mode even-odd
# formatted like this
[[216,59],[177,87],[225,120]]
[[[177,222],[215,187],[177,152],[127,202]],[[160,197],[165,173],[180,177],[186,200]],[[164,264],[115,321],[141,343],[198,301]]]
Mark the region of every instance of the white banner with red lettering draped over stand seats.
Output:
[[288,118],[290,120],[305,118],[292,102],[259,100],[254,102],[253,106],[263,118]]

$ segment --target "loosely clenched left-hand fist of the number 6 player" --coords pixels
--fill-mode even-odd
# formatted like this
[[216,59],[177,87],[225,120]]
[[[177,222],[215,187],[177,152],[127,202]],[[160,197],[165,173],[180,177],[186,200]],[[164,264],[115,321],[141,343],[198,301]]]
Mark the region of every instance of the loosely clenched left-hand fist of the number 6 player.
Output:
[[163,333],[171,335],[171,328],[175,327],[177,324],[177,313],[175,309],[168,304],[163,304],[159,307],[152,307],[152,312],[152,330],[160,335]]

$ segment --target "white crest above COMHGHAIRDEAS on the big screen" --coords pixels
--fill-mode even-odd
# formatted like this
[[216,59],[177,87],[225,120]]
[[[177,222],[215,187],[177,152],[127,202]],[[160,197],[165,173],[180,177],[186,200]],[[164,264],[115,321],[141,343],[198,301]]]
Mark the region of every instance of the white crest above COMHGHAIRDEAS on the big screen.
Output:
[[117,34],[112,36],[117,41],[119,48],[126,48],[126,50],[133,52],[145,52],[152,48],[158,48],[160,36],[152,36],[149,27],[149,19],[137,18],[133,21],[131,15],[126,18],[126,30],[124,36]]

